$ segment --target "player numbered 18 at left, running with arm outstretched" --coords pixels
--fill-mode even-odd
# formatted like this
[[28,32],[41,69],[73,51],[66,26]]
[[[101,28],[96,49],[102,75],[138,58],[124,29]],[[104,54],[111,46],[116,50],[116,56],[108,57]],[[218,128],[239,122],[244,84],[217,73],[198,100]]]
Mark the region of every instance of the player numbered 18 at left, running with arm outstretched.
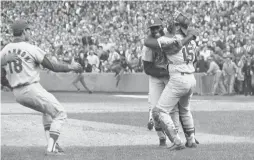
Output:
[[39,47],[29,44],[30,32],[25,21],[14,22],[12,30],[14,40],[1,51],[1,67],[6,71],[16,101],[43,113],[48,143],[46,155],[62,155],[57,140],[67,114],[58,100],[40,85],[40,65],[54,72],[80,71],[82,67],[75,62],[63,64],[53,61]]

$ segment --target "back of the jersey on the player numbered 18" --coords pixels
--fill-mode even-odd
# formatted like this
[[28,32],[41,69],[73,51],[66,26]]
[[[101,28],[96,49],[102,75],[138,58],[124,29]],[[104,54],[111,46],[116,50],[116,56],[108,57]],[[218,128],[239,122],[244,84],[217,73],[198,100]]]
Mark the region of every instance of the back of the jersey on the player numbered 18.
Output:
[[1,56],[16,53],[18,59],[4,66],[6,77],[12,87],[38,82],[40,80],[40,63],[45,52],[27,42],[9,43],[1,51]]

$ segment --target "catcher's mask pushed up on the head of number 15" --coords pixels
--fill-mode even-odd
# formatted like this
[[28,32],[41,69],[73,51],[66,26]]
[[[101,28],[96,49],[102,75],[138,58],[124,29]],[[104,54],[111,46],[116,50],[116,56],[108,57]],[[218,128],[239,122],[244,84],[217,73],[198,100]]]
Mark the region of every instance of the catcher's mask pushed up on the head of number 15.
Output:
[[175,11],[175,13],[173,15],[173,19],[174,19],[175,26],[179,26],[182,33],[187,35],[187,29],[191,23],[190,18],[188,18],[182,12],[177,10],[177,11]]

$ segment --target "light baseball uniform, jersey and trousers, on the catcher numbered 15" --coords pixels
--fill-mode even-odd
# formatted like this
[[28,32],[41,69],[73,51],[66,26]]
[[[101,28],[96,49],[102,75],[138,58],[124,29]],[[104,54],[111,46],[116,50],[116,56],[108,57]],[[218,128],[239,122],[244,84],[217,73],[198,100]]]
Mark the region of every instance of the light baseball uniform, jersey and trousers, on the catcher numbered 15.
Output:
[[[177,39],[183,39],[182,35],[176,35]],[[169,60],[168,71],[170,80],[163,90],[161,97],[156,105],[162,112],[170,113],[176,104],[179,104],[179,114],[183,128],[188,131],[194,130],[194,122],[190,112],[190,98],[193,88],[196,85],[194,77],[193,61],[195,59],[195,42],[183,46],[176,54],[166,54]],[[167,123],[173,125],[172,119]]]

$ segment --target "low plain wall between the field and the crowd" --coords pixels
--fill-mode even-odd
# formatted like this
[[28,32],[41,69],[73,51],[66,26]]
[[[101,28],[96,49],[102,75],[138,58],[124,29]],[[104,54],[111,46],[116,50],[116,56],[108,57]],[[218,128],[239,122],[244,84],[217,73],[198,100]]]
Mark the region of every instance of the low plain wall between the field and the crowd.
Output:
[[[123,92],[123,93],[148,93],[148,76],[144,73],[126,73],[122,76],[118,87],[114,73],[83,73],[87,86],[95,92]],[[42,86],[48,91],[76,91],[72,85],[76,73],[41,72]],[[206,95],[211,93],[213,76],[204,76],[195,73],[197,80],[195,94]],[[81,91],[85,89],[78,82]]]

